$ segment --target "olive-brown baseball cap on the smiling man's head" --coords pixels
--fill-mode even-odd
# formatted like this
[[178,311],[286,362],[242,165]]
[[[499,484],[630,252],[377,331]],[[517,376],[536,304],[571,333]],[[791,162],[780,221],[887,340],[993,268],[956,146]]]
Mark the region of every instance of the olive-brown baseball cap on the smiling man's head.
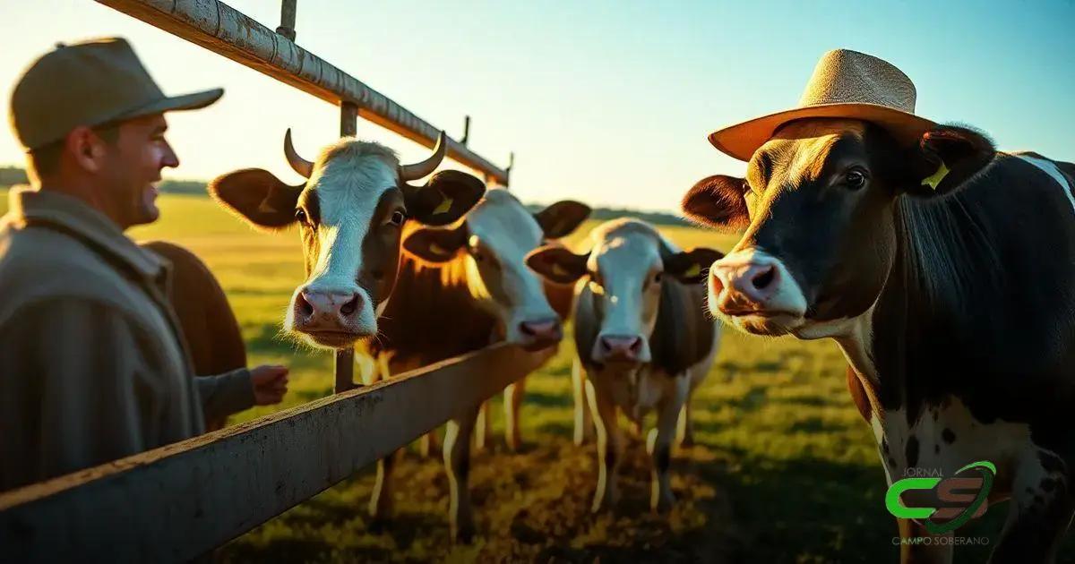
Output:
[[64,45],[42,55],[15,84],[9,116],[27,150],[63,139],[80,126],[97,127],[175,110],[197,110],[224,90],[168,97],[130,43],[105,38]]

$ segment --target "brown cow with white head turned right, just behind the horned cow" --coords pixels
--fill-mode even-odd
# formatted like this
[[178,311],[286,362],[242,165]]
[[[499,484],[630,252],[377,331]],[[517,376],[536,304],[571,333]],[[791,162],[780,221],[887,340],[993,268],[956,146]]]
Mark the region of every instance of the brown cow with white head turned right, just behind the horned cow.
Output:
[[[589,213],[582,203],[561,201],[531,214],[511,192],[494,188],[458,226],[407,227],[404,258],[379,321],[379,337],[361,347],[362,355],[373,359],[367,366],[387,366],[388,374],[397,374],[498,342],[531,350],[557,345],[560,315],[525,259],[547,240],[574,231]],[[367,381],[384,376],[363,371]],[[464,543],[475,532],[467,481],[477,409],[448,422],[444,439],[452,536]],[[392,510],[392,462],[389,455],[377,464],[370,500],[375,522],[388,519]]]

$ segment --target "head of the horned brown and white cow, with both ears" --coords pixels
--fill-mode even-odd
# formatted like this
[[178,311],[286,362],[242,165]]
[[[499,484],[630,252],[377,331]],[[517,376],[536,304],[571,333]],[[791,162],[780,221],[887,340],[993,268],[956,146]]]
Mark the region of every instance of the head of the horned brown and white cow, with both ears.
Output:
[[304,184],[288,186],[262,169],[210,184],[213,198],[254,227],[299,226],[306,280],[291,297],[285,330],[325,348],[349,347],[377,333],[407,219],[449,225],[485,193],[482,180],[458,171],[439,172],[424,186],[407,184],[432,173],[446,150],[442,132],[431,157],[400,164],[384,145],[344,138],[310,162],[296,153],[288,130],[284,151],[307,178]]

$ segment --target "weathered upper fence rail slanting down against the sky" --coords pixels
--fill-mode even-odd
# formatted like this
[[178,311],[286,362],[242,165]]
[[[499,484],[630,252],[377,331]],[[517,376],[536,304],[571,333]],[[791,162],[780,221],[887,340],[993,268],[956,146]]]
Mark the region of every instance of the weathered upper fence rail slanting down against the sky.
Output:
[[[354,76],[218,0],[97,0],[317,98],[352,102],[360,117],[432,147],[440,129]],[[507,171],[448,139],[448,157],[507,186]]]

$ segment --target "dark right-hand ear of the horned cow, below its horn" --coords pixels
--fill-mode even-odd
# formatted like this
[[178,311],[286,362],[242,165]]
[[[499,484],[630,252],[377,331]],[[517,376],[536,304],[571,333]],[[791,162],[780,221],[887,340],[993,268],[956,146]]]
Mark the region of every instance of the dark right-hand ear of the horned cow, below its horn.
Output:
[[460,171],[441,171],[425,186],[403,185],[407,214],[419,223],[446,226],[459,220],[485,196],[485,183]]

